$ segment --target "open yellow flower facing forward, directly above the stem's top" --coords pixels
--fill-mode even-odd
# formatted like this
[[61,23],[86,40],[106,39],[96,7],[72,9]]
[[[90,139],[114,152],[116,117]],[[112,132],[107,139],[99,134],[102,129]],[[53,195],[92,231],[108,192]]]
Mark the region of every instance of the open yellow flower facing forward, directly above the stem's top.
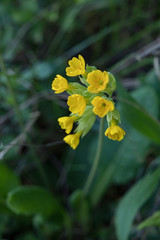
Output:
[[93,112],[101,118],[114,110],[114,104],[111,101],[99,96],[95,97],[91,103],[94,106]]

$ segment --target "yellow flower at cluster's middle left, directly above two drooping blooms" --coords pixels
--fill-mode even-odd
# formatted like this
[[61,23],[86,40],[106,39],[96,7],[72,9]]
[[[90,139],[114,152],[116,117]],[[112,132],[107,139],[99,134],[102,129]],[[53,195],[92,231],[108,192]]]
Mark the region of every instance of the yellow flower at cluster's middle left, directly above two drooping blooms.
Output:
[[80,94],[73,94],[68,97],[69,110],[72,113],[77,113],[79,116],[81,116],[84,113],[84,110],[86,108],[86,102],[82,95]]

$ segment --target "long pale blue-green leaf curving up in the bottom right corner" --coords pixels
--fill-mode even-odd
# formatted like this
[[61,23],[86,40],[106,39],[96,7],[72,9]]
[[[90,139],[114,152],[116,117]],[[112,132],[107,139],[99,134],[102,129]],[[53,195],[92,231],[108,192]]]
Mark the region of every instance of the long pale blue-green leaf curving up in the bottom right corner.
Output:
[[115,226],[118,240],[127,240],[132,222],[138,210],[151,197],[160,179],[160,168],[147,174],[136,183],[120,201]]

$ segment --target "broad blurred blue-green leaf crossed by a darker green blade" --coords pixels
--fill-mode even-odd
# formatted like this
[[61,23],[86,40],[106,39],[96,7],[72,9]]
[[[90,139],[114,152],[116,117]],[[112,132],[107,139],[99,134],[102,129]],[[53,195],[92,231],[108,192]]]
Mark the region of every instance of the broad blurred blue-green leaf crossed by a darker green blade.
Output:
[[[154,117],[158,116],[158,101],[155,91],[148,86],[141,87],[132,93],[132,97],[140,104],[143,102],[143,107]],[[152,106],[152,107],[151,107]],[[120,103],[120,111],[123,107]],[[128,126],[124,121],[125,128]],[[143,164],[145,156],[150,151],[152,141],[144,135],[136,131],[134,128],[126,128],[125,140],[119,151],[116,154],[117,171],[114,174],[114,182],[120,184],[132,179],[138,167]],[[129,169],[129,171],[128,171]]]

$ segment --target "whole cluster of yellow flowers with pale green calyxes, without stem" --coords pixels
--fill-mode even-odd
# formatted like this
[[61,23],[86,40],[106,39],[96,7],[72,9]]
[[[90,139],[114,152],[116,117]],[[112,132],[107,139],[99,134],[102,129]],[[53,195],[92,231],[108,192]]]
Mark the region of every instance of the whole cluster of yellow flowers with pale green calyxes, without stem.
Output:
[[[121,141],[125,132],[118,126],[120,115],[112,99],[112,94],[116,89],[113,74],[86,65],[81,55],[78,58],[73,57],[68,64],[66,75],[79,76],[82,84],[69,83],[61,75],[57,75],[52,82],[52,89],[55,93],[66,91],[70,95],[67,104],[71,114],[58,119],[59,125],[68,134],[64,137],[64,141],[75,149],[80,137],[84,137],[93,126],[96,116],[107,119],[108,128],[105,135],[112,140]],[[74,122],[77,122],[77,128],[73,134],[70,134]]]

